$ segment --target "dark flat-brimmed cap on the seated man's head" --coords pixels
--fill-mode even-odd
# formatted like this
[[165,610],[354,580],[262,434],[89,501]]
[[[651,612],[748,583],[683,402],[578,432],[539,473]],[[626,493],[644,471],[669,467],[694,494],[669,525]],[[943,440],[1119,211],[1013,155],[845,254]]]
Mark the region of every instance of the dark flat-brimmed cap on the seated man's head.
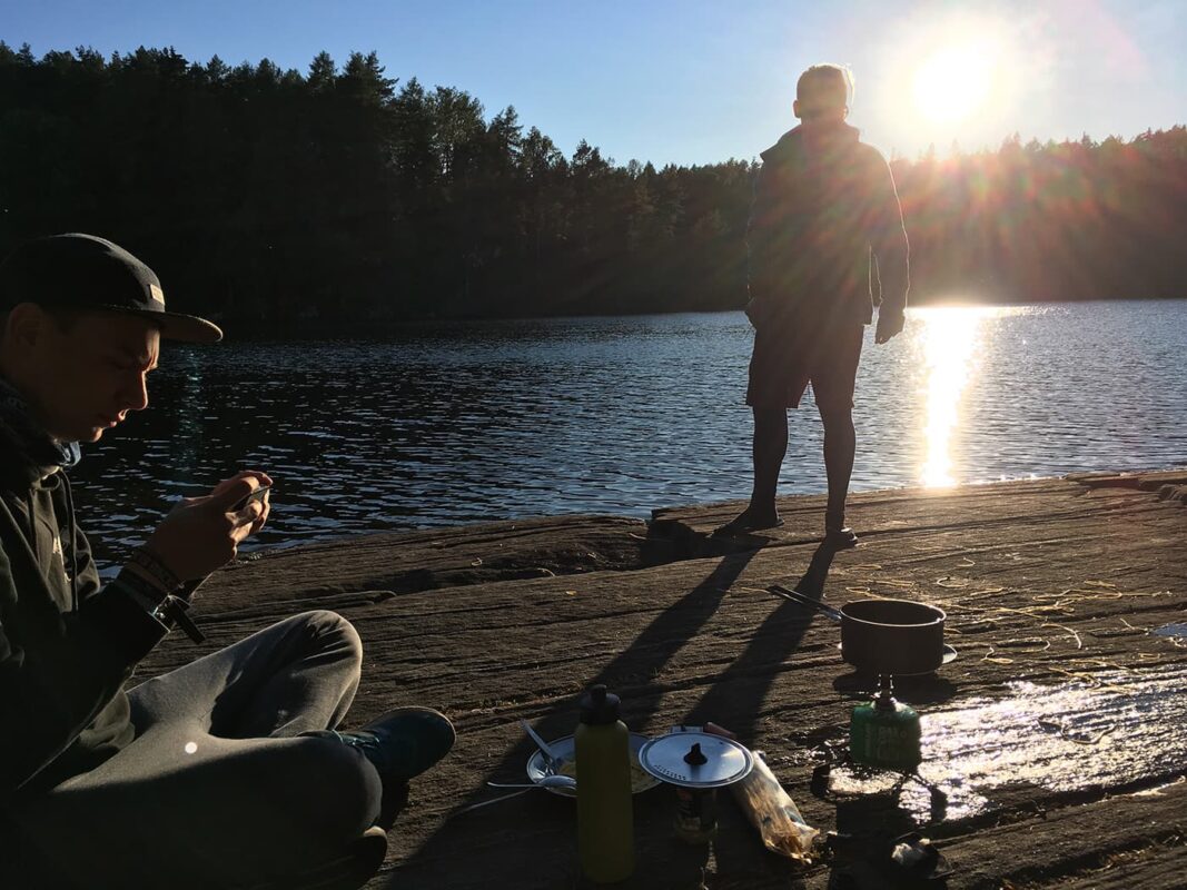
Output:
[[0,263],[0,312],[18,303],[142,316],[157,322],[166,339],[222,339],[218,326],[204,318],[166,312],[157,273],[122,247],[94,235],[52,235],[27,241],[8,254]]

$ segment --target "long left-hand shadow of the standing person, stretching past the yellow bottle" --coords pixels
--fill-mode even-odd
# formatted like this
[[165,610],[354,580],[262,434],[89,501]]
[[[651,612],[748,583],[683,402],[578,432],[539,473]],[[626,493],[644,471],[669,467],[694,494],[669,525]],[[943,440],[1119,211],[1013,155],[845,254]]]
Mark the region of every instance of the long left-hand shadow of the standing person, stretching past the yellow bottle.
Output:
[[[685,593],[648,624],[596,676],[583,685],[605,684],[622,697],[622,718],[631,729],[642,727],[655,716],[664,689],[652,682],[680,648],[712,618],[722,598],[745,570],[756,551],[728,554],[696,587]],[[640,591],[640,596],[647,596]],[[572,699],[553,708],[534,729],[545,738],[571,735],[577,727],[578,701]],[[521,742],[485,770],[469,800],[475,803],[493,794],[483,782],[515,781],[533,746]],[[635,834],[639,869],[622,885],[699,885],[705,854],[697,847],[671,839],[675,809],[669,788],[661,786],[635,796]],[[399,843],[398,840],[395,843]],[[672,879],[678,875],[679,879]],[[684,877],[687,877],[687,884]],[[495,803],[446,819],[387,883],[389,888],[434,886],[462,890],[489,890],[494,886],[560,888],[578,886],[577,815],[573,801],[546,792]]]

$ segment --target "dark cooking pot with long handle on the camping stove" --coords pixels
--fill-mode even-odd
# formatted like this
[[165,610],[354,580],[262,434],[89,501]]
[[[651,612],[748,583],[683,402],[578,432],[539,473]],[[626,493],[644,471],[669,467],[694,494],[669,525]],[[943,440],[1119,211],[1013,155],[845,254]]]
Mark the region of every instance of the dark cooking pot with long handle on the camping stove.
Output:
[[909,599],[857,599],[840,609],[774,584],[768,590],[840,624],[840,656],[871,674],[926,674],[944,663],[942,609]]

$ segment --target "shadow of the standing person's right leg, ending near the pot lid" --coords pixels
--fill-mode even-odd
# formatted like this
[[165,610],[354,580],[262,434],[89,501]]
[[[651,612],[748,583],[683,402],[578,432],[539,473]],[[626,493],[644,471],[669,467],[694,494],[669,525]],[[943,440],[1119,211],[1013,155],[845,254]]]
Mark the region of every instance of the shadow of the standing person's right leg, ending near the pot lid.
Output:
[[[836,553],[836,548],[824,543],[817,547],[795,590],[820,599]],[[749,742],[772,682],[779,676],[782,663],[799,648],[814,616],[810,606],[782,600],[755,630],[742,654],[697,703],[688,721],[712,720]]]

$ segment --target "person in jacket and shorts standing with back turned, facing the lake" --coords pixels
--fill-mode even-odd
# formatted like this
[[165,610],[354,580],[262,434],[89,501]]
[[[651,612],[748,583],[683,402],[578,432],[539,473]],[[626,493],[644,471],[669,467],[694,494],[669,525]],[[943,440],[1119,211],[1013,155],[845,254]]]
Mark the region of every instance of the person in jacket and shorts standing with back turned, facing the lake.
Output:
[[857,363],[875,303],[875,342],[902,330],[909,281],[907,231],[890,167],[845,122],[851,87],[844,68],[810,68],[793,104],[801,123],[762,153],[747,233],[754,491],[747,509],[715,534],[782,525],[775,490],[787,453],[787,409],[799,407],[811,382],[824,422],[825,541],[857,543],[845,525]]

